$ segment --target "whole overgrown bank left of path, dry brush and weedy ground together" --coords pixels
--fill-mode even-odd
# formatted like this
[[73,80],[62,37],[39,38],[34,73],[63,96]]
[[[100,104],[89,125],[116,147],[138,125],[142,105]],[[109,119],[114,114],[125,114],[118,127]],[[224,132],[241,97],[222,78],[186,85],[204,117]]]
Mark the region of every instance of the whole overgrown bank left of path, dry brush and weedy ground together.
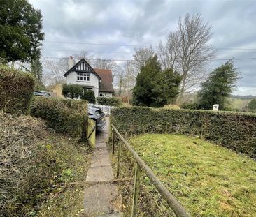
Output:
[[41,119],[0,111],[0,216],[76,216],[90,165],[86,143]]

